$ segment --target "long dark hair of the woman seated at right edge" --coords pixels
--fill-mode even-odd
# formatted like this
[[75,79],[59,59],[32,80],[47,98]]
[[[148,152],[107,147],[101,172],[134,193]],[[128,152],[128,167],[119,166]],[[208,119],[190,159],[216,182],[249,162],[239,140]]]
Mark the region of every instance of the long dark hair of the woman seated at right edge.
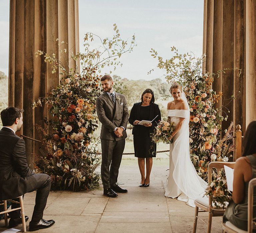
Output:
[[256,154],[256,120],[248,124],[243,138],[243,154],[247,156]]

